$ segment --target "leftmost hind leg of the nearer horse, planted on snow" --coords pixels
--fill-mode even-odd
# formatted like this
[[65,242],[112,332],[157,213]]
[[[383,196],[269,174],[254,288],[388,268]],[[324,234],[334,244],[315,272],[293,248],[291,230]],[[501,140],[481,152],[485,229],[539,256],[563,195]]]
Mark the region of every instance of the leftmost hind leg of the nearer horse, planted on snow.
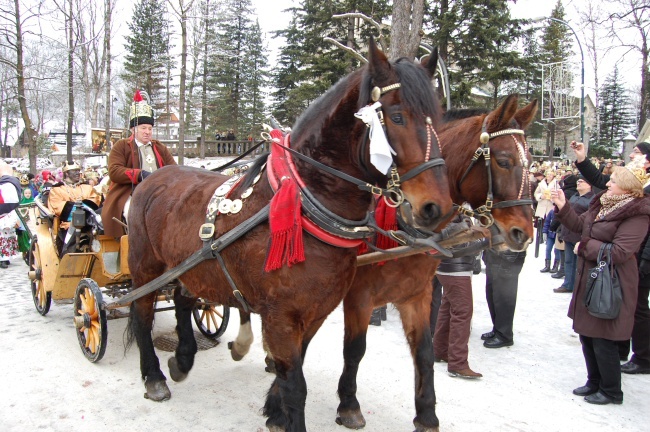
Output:
[[129,329],[140,349],[140,372],[146,389],[144,397],[160,402],[169,399],[171,392],[165,383],[165,375],[160,370],[151,338],[156,295],[153,292],[131,303]]

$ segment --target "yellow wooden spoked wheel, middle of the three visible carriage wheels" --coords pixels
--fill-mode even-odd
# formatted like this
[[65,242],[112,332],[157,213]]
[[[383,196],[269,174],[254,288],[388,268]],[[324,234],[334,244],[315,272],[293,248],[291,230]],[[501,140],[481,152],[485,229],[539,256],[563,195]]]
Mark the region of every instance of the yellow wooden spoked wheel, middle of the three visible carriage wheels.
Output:
[[86,358],[95,363],[106,352],[106,311],[102,292],[92,279],[81,279],[74,295],[74,326],[79,346]]

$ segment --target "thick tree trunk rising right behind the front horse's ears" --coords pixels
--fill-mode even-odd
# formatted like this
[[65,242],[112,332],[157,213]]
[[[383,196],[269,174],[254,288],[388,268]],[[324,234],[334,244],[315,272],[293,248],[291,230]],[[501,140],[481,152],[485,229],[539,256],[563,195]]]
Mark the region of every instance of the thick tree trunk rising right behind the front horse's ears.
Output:
[[389,59],[414,58],[422,38],[424,0],[394,0]]

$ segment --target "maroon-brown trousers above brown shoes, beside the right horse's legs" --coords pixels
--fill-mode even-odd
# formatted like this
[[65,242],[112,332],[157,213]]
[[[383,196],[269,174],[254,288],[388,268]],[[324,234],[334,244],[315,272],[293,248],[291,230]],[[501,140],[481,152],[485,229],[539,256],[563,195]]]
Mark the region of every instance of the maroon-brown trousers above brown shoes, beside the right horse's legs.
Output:
[[441,274],[436,277],[444,286],[444,292],[433,337],[433,353],[436,358],[447,359],[450,371],[467,369],[467,343],[474,313],[472,278]]

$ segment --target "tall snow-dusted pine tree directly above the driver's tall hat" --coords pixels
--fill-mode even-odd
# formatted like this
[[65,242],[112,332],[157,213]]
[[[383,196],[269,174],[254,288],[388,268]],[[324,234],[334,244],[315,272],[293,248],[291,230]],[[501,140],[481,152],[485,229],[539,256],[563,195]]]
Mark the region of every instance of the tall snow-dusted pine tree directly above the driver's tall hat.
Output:
[[169,55],[169,21],[163,0],[140,0],[126,36],[123,79],[133,89],[145,90],[152,102],[163,100],[167,70],[172,66]]

